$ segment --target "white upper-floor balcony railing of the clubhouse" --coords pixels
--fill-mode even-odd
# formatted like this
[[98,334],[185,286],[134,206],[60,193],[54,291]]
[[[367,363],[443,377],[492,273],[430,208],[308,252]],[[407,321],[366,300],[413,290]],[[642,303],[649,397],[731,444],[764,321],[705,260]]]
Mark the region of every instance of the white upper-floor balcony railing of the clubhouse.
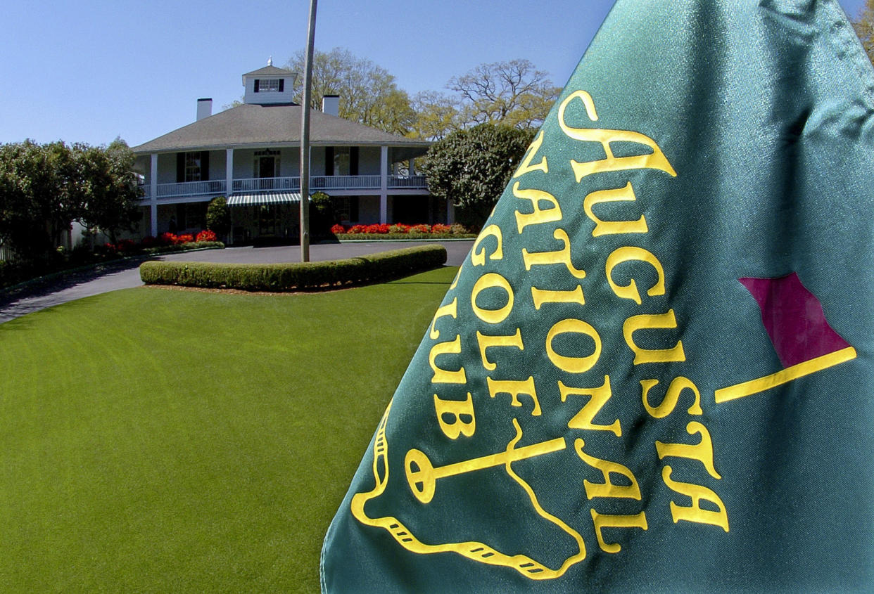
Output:
[[[388,176],[387,187],[392,190],[427,190],[425,176]],[[380,176],[311,176],[309,189],[316,190],[379,190]],[[225,180],[208,182],[159,183],[158,200],[183,196],[203,196],[226,194]],[[151,186],[141,186],[143,198],[151,197]],[[231,193],[257,191],[300,191],[301,178],[295,177],[250,177],[232,181]]]

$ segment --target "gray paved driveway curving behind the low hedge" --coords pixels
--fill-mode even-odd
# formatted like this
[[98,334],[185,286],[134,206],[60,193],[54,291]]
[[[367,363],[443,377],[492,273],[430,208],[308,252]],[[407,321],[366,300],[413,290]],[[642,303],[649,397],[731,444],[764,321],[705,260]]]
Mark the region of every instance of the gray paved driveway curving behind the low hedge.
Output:
[[[438,243],[446,247],[447,266],[461,266],[467,257],[473,239],[469,241],[363,241],[342,244],[319,244],[309,247],[309,259],[313,261],[354,258],[366,253],[385,252],[400,247],[410,247],[425,243]],[[157,259],[168,261],[233,262],[238,264],[273,264],[281,262],[300,262],[301,248],[298,245],[278,247],[226,247],[224,250],[203,250],[200,252],[170,253]],[[10,321],[24,314],[53,307],[67,301],[82,299],[109,291],[139,287],[139,266],[144,259],[131,259],[104,266],[101,270],[87,270],[71,273],[52,282],[47,287],[24,287],[8,296],[0,294],[0,323]]]

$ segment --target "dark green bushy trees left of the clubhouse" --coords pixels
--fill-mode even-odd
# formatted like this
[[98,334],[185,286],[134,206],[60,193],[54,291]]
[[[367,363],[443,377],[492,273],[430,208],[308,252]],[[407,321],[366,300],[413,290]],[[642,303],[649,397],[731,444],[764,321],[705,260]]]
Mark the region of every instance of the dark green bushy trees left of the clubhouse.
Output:
[[23,259],[54,250],[73,221],[107,232],[139,217],[134,155],[108,147],[32,141],[0,145],[0,242]]

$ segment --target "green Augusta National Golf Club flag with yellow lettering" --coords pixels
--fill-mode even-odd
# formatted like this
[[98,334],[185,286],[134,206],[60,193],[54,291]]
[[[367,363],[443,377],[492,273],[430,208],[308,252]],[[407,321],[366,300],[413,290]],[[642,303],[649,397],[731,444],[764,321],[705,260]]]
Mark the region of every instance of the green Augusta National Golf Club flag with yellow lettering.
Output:
[[872,212],[874,72],[834,0],[619,0],[425,330],[323,591],[870,588]]

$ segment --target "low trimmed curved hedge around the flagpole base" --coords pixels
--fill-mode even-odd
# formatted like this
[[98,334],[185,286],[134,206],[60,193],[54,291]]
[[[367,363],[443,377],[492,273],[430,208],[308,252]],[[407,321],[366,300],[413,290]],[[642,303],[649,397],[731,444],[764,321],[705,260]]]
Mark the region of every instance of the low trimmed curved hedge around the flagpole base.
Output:
[[318,290],[399,279],[446,263],[442,245],[417,245],[390,252],[325,262],[287,264],[218,264],[213,262],[143,262],[147,285],[180,285],[242,291]]

